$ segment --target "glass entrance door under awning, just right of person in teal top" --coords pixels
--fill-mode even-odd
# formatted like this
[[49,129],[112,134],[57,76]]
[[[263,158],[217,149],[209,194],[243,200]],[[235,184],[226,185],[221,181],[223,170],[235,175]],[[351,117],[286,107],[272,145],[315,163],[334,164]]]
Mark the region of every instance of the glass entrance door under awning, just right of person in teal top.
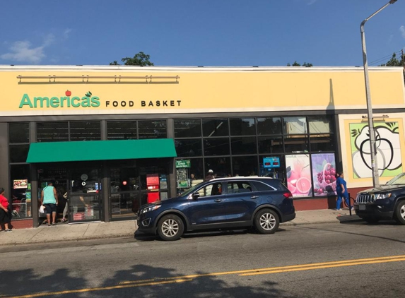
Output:
[[100,221],[101,177],[96,167],[71,169],[69,178],[69,223]]

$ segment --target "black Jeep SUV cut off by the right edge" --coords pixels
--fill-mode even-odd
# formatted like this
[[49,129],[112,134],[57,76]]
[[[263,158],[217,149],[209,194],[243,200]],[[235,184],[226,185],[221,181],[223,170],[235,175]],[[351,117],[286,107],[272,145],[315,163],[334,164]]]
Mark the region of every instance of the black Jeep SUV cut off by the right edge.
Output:
[[405,173],[397,175],[385,185],[360,191],[354,210],[366,222],[394,219],[405,225]]

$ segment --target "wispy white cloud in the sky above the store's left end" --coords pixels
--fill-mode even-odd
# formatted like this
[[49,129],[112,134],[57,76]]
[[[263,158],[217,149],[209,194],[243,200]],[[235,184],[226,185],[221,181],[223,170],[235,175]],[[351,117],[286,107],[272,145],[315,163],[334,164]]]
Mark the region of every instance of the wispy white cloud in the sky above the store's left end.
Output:
[[11,47],[9,47],[10,52],[2,54],[0,58],[4,60],[38,64],[46,57],[44,50],[45,47],[49,47],[49,45],[53,44],[54,40],[54,35],[49,34],[45,36],[40,47],[32,47],[31,42],[28,40],[14,42],[11,44]]

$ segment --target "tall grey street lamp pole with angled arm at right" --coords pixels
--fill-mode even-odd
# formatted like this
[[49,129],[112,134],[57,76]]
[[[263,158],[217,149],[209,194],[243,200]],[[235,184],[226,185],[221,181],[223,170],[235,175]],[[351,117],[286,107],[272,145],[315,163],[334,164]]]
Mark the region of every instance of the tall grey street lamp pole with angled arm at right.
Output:
[[374,123],[372,119],[372,106],[371,106],[371,96],[370,96],[370,82],[368,80],[368,64],[367,64],[367,52],[365,50],[365,35],[364,35],[364,24],[370,18],[375,16],[377,13],[382,11],[384,8],[389,6],[389,4],[394,4],[397,0],[391,0],[385,6],[382,6],[378,11],[372,13],[371,16],[363,20],[360,25],[360,32],[361,32],[361,45],[363,48],[363,66],[364,66],[364,81],[365,81],[365,98],[367,99],[367,117],[368,117],[368,129],[370,131],[370,157],[371,157],[371,170],[372,170],[372,186],[378,187],[380,186],[380,177],[378,175],[378,166],[377,166],[377,158],[376,158],[376,151],[377,148],[375,147],[375,131],[374,131]]

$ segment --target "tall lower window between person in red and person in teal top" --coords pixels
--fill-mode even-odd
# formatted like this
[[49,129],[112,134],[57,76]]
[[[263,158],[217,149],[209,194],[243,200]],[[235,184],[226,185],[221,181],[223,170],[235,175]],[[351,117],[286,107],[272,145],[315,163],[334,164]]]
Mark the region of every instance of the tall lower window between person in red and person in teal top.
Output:
[[11,165],[11,201],[15,218],[31,217],[30,165]]

